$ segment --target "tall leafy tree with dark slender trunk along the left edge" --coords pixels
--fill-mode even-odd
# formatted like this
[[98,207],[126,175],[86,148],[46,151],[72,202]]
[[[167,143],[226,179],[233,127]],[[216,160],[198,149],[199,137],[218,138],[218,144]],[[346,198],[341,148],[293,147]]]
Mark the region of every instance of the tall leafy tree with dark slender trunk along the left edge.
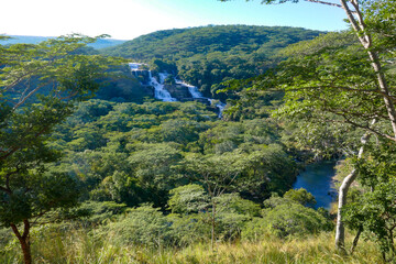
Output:
[[46,143],[73,102],[90,97],[105,70],[121,63],[79,53],[95,40],[72,35],[0,46],[0,224],[12,229],[25,263],[32,263],[31,228],[48,211],[78,201],[73,177],[47,172],[59,153]]

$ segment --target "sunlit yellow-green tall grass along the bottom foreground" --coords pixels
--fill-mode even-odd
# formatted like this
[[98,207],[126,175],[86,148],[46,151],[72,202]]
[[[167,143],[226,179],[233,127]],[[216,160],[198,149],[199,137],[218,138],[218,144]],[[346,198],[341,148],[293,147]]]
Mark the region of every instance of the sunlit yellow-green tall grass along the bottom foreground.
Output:
[[[352,256],[342,256],[334,251],[333,234],[323,232],[316,237],[279,240],[263,238],[260,241],[209,243],[184,249],[146,249],[136,245],[121,246],[111,237],[96,239],[95,233],[82,229],[73,231],[40,230],[32,242],[35,263],[51,264],[125,264],[125,263],[382,263],[374,244],[361,241]],[[0,263],[21,263],[18,243],[0,253]]]

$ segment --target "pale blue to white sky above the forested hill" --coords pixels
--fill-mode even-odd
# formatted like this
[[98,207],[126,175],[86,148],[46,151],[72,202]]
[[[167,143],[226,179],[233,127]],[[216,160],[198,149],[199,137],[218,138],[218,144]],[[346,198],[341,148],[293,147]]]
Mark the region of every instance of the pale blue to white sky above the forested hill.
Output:
[[0,0],[0,34],[7,35],[80,33],[133,40],[158,30],[209,24],[346,29],[342,9],[310,2],[265,6],[261,0]]

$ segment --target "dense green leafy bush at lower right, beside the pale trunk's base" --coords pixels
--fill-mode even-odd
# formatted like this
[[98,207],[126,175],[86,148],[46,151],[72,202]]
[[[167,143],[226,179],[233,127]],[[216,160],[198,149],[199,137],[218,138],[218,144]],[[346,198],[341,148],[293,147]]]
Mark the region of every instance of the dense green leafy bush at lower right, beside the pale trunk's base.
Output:
[[385,142],[366,147],[364,161],[354,161],[360,174],[361,187],[359,196],[342,211],[345,222],[352,229],[362,232],[375,241],[384,258],[395,257],[394,229],[395,211],[395,176],[396,166],[389,164],[395,158],[395,145]]

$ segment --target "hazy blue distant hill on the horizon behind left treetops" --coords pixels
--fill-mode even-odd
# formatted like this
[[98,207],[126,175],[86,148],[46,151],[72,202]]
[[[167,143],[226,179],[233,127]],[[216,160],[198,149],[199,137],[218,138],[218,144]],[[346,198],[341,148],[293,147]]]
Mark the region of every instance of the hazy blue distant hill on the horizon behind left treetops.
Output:
[[[54,36],[25,36],[25,35],[10,35],[12,38],[8,41],[2,41],[0,44],[16,44],[16,43],[28,43],[28,44],[37,44],[40,42],[46,41],[48,38],[54,38]],[[89,44],[89,46],[94,48],[105,48],[110,46],[116,46],[119,44],[124,43],[125,41],[120,40],[112,40],[112,38],[106,38],[106,40],[98,40],[96,43]]]

